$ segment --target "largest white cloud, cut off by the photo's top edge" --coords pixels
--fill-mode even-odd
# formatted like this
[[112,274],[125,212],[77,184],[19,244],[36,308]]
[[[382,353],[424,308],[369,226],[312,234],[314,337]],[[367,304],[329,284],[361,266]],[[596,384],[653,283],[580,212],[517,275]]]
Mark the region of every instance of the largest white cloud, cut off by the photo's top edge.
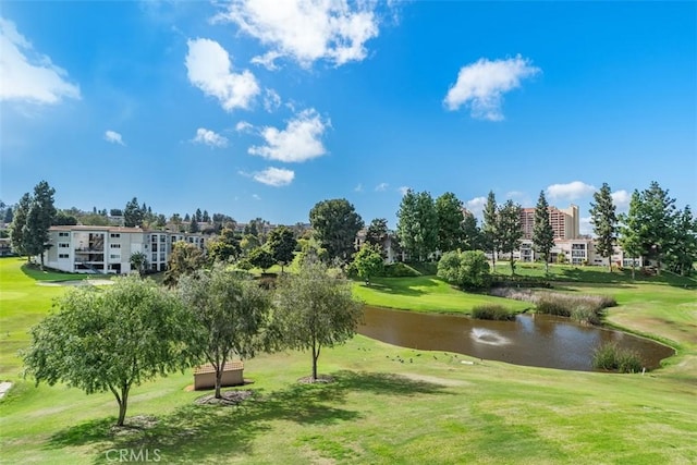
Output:
[[269,47],[253,62],[277,69],[288,57],[309,68],[316,60],[335,65],[366,58],[365,44],[378,36],[374,2],[346,0],[232,0],[215,21],[236,24]]

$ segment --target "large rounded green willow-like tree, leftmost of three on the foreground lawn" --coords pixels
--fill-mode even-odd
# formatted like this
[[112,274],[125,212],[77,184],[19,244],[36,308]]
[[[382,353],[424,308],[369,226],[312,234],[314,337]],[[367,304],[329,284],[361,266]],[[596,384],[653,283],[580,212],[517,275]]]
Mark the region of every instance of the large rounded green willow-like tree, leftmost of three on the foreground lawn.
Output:
[[32,328],[23,354],[37,383],[65,382],[87,394],[111,391],[123,426],[133,386],[189,367],[188,313],[150,280],[122,277],[100,291],[69,290],[58,311]]

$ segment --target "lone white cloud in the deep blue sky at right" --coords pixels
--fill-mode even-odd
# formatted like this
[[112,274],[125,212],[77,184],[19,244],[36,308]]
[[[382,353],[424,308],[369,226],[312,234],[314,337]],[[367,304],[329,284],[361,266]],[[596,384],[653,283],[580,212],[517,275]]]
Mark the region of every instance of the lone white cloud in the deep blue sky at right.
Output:
[[472,118],[501,121],[503,94],[519,87],[521,79],[541,72],[519,54],[494,61],[480,58],[476,63],[460,69],[457,82],[448,90],[443,102],[449,110],[468,105]]

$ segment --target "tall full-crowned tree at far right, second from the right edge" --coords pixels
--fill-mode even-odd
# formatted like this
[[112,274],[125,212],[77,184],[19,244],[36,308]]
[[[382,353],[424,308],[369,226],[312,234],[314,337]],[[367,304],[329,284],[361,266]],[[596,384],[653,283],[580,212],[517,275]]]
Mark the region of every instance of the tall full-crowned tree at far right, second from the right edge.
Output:
[[663,256],[675,242],[675,199],[669,197],[668,191],[656,181],[641,193],[640,198],[641,244],[647,254],[656,258],[660,274]]

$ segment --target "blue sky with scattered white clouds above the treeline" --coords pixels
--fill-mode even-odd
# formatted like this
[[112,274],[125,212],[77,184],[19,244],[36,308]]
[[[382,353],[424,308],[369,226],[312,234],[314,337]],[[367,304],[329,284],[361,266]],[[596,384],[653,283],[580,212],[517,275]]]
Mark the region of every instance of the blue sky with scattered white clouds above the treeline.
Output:
[[[0,198],[307,221],[492,189],[697,205],[695,2],[0,3]],[[582,229],[588,225],[582,221]]]

